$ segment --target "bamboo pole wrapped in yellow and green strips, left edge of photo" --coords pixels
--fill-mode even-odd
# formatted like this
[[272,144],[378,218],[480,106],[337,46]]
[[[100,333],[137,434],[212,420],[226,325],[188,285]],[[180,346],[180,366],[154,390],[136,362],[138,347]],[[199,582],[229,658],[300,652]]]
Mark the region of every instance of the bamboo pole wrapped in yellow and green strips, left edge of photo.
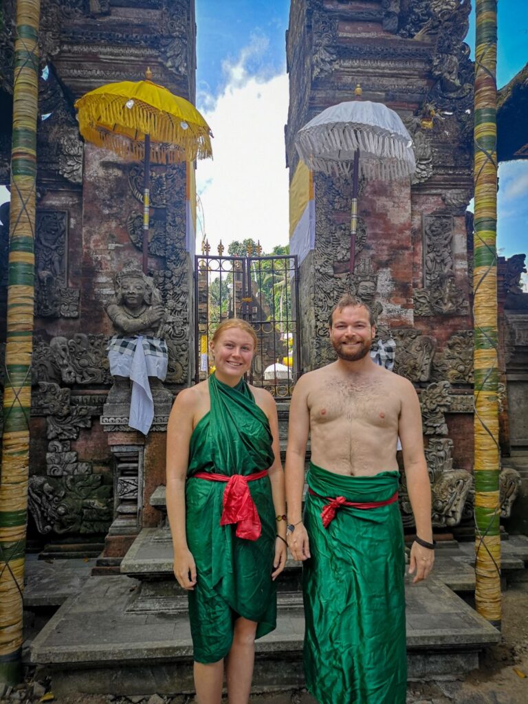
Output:
[[11,222],[0,478],[0,683],[21,679],[30,455],[40,0],[16,6]]

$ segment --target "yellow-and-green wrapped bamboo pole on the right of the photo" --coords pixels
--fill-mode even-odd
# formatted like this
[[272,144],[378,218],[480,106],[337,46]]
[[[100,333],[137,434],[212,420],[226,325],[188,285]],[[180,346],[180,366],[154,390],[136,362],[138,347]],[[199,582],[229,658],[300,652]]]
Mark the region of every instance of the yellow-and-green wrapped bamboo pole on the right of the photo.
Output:
[[501,624],[498,493],[497,0],[477,0],[474,85],[475,603]]

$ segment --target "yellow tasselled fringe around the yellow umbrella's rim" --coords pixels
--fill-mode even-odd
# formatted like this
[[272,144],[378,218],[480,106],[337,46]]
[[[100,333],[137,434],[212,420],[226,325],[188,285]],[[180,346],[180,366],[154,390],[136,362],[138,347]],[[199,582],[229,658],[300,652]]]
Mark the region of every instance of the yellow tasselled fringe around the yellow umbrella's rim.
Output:
[[[83,108],[79,112],[79,131],[82,136],[99,146],[115,149],[124,158],[140,158],[141,153],[144,153],[144,146],[142,142],[134,144],[132,140],[129,144],[124,144],[125,140],[119,138],[118,132],[111,132],[113,125],[122,125],[131,132],[150,134],[152,161],[173,163],[212,155],[210,130],[207,126],[186,121],[187,129],[184,130],[181,127],[182,120],[177,117],[168,120],[166,113],[161,113],[142,101],[134,101],[133,108],[129,109],[125,106],[124,99],[119,97],[104,106],[95,100],[87,101]],[[96,127],[101,124],[108,125],[108,130]],[[130,139],[127,134],[122,137]],[[195,147],[196,139],[199,144]],[[159,146],[159,151],[168,151],[167,158],[153,158],[156,143],[163,144]],[[174,144],[177,146],[172,146]]]

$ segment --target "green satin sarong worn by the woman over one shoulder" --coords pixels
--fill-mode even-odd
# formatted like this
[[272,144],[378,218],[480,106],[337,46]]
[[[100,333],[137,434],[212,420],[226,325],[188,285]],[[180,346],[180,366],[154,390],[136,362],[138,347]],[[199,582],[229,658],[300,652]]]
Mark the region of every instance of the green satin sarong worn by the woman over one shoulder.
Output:
[[187,544],[196,562],[197,584],[189,591],[196,662],[225,658],[237,617],[258,622],[257,638],[275,629],[277,620],[269,477],[247,484],[262,526],[255,541],[237,538],[234,524],[220,525],[226,484],[194,477],[197,472],[248,476],[268,469],[274,460],[268,418],[244,380],[232,388],[211,375],[209,395],[210,411],[191,436],[185,489]]

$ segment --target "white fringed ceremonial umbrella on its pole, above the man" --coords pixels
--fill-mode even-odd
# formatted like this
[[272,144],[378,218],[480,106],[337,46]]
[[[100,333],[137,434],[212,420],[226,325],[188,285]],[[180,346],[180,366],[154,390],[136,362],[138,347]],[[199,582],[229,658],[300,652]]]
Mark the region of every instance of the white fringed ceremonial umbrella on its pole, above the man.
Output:
[[416,168],[413,140],[400,116],[383,103],[356,100],[332,105],[301,127],[295,136],[298,155],[313,171],[352,177],[350,271],[354,271],[358,220],[358,177],[394,180]]

